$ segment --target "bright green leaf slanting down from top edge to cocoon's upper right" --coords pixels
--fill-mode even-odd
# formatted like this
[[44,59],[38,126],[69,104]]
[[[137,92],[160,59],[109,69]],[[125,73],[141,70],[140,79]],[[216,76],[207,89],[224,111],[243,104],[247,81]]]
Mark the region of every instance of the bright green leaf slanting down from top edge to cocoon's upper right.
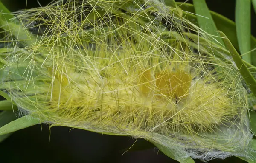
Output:
[[[193,0],[193,4],[195,8],[195,13],[197,14],[199,27],[203,29],[205,32],[207,32],[207,34],[220,36],[217,32],[217,27],[212,19],[212,15],[210,14],[210,11],[207,7],[205,0]],[[219,43],[224,45],[224,42],[220,37],[215,37],[215,39]]]

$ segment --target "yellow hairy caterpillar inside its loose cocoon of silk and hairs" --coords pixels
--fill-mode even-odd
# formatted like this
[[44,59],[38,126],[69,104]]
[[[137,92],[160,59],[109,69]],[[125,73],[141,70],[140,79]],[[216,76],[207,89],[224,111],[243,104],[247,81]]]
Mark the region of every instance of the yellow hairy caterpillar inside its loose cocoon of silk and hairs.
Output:
[[[5,24],[0,89],[63,126],[202,160],[247,156],[246,91],[227,50],[157,0],[66,0]],[[3,24],[3,22],[2,22]]]

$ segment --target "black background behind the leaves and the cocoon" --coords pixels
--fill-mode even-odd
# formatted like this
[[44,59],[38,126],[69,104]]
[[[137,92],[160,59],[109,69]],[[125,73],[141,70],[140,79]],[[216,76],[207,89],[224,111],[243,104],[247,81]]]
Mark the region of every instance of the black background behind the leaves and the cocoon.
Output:
[[[41,6],[51,0],[39,0]],[[184,2],[185,0],[176,0]],[[206,0],[210,10],[234,21],[235,0]],[[2,0],[11,10],[39,7],[37,0]],[[189,0],[188,3],[192,3]],[[27,5],[26,5],[27,4]],[[252,34],[256,36],[256,16],[252,8]],[[50,135],[51,132],[51,135]],[[49,139],[50,138],[50,139]],[[50,141],[49,141],[50,140]],[[0,143],[0,163],[175,163],[142,139],[102,135],[80,129],[36,125],[13,133]],[[132,146],[134,144],[134,146]],[[132,147],[131,147],[132,146]],[[131,147],[128,152],[125,152]],[[125,152],[125,153],[124,153]],[[123,154],[124,153],[124,154]],[[196,162],[200,163],[199,160]],[[210,163],[243,162],[236,157]]]

